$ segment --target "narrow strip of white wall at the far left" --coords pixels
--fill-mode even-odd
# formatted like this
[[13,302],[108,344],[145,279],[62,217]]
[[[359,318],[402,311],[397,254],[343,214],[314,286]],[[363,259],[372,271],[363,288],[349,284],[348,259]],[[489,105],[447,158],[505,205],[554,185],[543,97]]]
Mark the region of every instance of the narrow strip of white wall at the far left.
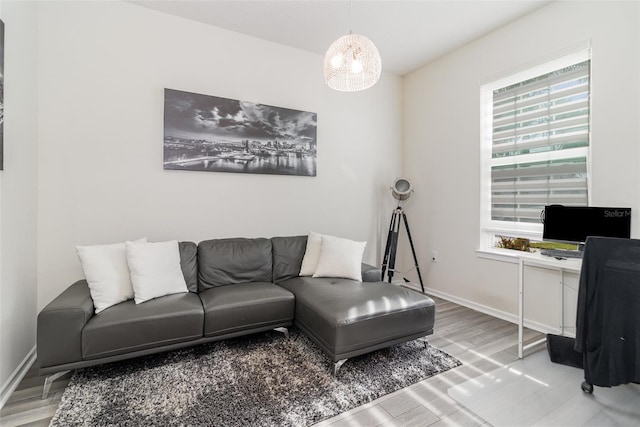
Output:
[[35,345],[37,8],[0,3],[5,23],[4,171],[0,172],[0,406]]

